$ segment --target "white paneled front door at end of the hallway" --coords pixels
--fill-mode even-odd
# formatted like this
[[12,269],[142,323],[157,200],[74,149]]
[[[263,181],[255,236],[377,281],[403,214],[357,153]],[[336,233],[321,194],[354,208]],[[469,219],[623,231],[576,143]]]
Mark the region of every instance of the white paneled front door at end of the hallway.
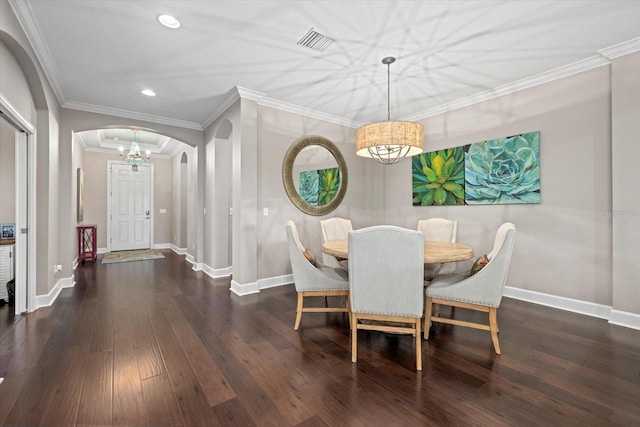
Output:
[[112,163],[110,249],[123,251],[151,247],[151,165]]

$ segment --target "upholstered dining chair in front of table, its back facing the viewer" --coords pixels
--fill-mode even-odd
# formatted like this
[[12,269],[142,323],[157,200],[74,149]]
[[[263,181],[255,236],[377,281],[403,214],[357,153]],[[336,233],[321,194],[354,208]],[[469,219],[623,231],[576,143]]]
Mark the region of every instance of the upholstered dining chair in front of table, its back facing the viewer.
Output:
[[417,230],[381,225],[349,233],[351,360],[358,330],[412,334],[422,370],[424,238]]

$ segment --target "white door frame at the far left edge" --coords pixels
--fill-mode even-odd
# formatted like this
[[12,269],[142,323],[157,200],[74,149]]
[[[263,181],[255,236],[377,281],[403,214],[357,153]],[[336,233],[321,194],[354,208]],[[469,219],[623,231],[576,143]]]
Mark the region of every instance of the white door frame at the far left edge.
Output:
[[[15,312],[36,305],[36,128],[0,93],[0,109],[16,129]],[[25,182],[26,181],[26,182]]]

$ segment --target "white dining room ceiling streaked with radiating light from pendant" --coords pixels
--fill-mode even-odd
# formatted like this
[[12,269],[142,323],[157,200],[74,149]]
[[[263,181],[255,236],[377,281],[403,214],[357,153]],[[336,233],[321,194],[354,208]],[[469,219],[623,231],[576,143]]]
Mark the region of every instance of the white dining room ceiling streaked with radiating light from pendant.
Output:
[[[637,0],[10,4],[64,107],[193,129],[235,87],[353,127],[385,120],[385,56],[398,58],[391,118],[417,120],[640,49]],[[162,27],[163,13],[181,28]],[[324,52],[297,45],[311,28],[335,42]]]

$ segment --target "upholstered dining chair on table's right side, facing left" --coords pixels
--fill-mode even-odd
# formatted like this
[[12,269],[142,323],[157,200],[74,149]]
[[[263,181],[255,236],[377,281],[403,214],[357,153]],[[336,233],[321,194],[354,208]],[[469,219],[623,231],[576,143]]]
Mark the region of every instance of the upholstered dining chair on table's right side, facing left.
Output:
[[[481,329],[491,333],[493,347],[500,354],[498,342],[498,308],[507,281],[516,227],[510,222],[502,224],[494,239],[493,249],[487,255],[489,262],[473,275],[445,274],[436,276],[425,288],[424,338],[429,339],[431,322],[448,323]],[[489,322],[476,323],[432,316],[433,304],[448,305],[486,312]]]

